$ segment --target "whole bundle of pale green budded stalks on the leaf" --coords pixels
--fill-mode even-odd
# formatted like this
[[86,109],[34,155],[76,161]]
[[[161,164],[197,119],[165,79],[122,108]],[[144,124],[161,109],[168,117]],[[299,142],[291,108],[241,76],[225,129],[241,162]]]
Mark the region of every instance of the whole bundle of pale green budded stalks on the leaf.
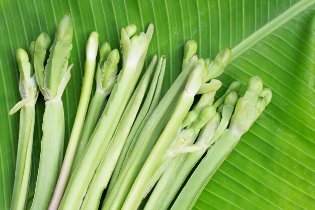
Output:
[[[45,33],[30,45],[33,65],[24,50],[17,51],[22,101],[10,114],[22,109],[12,209],[26,206],[38,89],[46,109],[31,209],[191,209],[269,104],[271,90],[263,89],[255,76],[241,98],[241,82],[235,81],[215,100],[222,84],[214,78],[228,65],[231,50],[223,49],[212,61],[198,59],[197,43],[190,40],[182,72],[160,101],[166,57],[155,67],[154,55],[143,70],[152,34],[153,24],[139,35],[135,25],[121,29],[121,69],[119,51],[107,42],[96,67],[99,34],[90,34],[81,98],[64,159],[61,96],[72,67],[67,65],[70,16],[58,24],[47,61],[50,39]],[[96,92],[88,109],[95,69]]]

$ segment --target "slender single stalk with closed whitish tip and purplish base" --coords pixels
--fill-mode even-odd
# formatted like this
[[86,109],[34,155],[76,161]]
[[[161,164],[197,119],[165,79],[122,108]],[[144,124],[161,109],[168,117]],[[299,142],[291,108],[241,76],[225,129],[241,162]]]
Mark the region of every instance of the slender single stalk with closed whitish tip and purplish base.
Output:
[[84,119],[88,110],[90,95],[92,91],[93,78],[96,66],[96,56],[99,45],[99,34],[92,32],[88,38],[86,46],[86,63],[84,71],[84,80],[82,85],[82,92],[80,101],[76,110],[76,115],[70,134],[67,150],[61,166],[59,178],[54,190],[54,194],[50,201],[48,210],[56,210],[59,206],[63,196],[67,181],[69,179],[70,170],[72,167],[77,143],[80,138],[81,130],[83,127]]

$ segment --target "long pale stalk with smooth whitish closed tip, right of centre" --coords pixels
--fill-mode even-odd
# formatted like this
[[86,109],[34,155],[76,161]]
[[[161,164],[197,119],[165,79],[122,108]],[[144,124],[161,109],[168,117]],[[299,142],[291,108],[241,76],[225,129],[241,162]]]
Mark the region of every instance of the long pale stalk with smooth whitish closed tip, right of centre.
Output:
[[204,60],[199,59],[195,69],[189,76],[184,91],[179,96],[174,113],[137,175],[128,196],[124,201],[122,209],[137,209],[140,204],[144,197],[142,191],[145,183],[149,180],[158,163],[156,160],[160,160],[166,153],[176,131],[181,127],[182,121],[189,112],[194,97],[202,84],[203,68]]

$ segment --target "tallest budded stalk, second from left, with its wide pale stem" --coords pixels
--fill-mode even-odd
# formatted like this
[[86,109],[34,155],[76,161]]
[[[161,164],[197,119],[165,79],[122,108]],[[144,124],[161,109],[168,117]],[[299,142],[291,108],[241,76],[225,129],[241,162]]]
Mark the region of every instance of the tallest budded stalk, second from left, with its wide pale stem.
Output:
[[[38,45],[42,35],[35,43],[34,63],[42,61],[37,56]],[[38,86],[46,100],[43,117],[43,136],[39,159],[36,188],[32,210],[47,209],[53,195],[62,164],[64,145],[64,113],[61,96],[70,80],[68,58],[72,49],[72,21],[66,14],[59,22],[55,39],[50,47],[49,58],[43,72],[43,65],[35,66]],[[43,63],[43,62],[41,62]]]

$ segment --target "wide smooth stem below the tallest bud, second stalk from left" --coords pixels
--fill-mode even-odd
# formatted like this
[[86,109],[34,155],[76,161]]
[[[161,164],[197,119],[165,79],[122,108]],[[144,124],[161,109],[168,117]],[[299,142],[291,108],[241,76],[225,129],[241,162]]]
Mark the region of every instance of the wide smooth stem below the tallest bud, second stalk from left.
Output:
[[51,100],[45,103],[42,129],[43,137],[32,210],[48,208],[57,183],[64,144],[64,113],[61,101]]

